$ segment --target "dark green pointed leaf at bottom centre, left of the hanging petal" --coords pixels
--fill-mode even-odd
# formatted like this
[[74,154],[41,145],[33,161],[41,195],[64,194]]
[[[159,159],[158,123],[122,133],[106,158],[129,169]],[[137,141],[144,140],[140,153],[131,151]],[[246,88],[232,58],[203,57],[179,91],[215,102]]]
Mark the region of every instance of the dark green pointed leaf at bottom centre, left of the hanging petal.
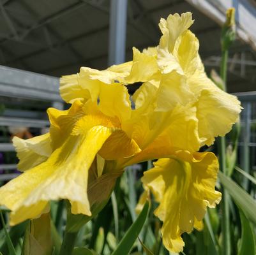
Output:
[[112,255],[127,255],[129,254],[132,246],[138,237],[140,230],[142,229],[144,222],[147,219],[147,215],[149,213],[149,202],[146,202],[139,216],[133,222],[132,226],[126,231],[124,237],[121,242],[118,244],[116,251],[112,253]]

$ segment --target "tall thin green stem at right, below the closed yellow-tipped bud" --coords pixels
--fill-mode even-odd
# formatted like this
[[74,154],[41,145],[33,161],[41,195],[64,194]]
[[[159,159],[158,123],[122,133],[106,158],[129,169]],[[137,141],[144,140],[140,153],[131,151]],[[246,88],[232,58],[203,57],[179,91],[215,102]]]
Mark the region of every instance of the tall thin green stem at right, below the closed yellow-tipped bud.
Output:
[[[222,61],[220,66],[220,76],[223,80],[223,91],[226,91],[226,82],[227,82],[227,59],[229,56],[228,50],[222,50]],[[220,157],[220,170],[227,175],[227,165],[226,165],[226,142],[225,137],[220,137],[218,139],[218,152]],[[223,233],[223,242],[222,242],[222,254],[230,255],[231,254],[231,245],[230,245],[230,221],[229,221],[229,194],[222,187],[222,233]]]

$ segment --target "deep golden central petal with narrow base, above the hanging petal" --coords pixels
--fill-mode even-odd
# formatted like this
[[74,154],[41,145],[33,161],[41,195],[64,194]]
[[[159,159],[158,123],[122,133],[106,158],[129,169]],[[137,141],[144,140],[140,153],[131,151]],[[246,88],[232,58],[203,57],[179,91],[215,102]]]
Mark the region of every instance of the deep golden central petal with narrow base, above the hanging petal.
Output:
[[178,105],[170,112],[155,113],[152,119],[148,116],[137,119],[132,125],[131,137],[142,151],[129,160],[119,159],[117,166],[169,157],[176,150],[199,150],[196,110],[195,106]]

